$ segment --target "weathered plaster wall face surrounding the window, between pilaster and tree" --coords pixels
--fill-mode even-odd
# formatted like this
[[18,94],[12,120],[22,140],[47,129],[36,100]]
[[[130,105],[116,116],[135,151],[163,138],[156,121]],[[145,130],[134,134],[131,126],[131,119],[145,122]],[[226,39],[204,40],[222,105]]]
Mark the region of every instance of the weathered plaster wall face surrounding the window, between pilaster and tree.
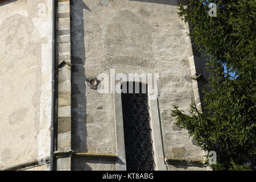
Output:
[[[159,112],[166,158],[203,159],[187,131],[175,126],[172,105],[188,112],[195,102],[187,32],[177,1],[72,0],[72,149],[116,154],[112,94],[85,84],[100,73],[159,73]],[[189,44],[188,44],[189,46]],[[81,165],[87,167],[81,167]],[[111,169],[101,161],[73,160],[73,169]],[[108,166],[108,167],[106,167]],[[114,168],[113,168],[114,169]],[[168,169],[205,169],[168,166]]]

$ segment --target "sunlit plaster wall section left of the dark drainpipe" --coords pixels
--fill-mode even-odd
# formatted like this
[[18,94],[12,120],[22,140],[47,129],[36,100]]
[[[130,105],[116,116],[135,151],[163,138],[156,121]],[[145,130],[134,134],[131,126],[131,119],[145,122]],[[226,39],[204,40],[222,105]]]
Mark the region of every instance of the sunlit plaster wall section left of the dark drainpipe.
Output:
[[49,156],[51,49],[51,1],[0,3],[0,169]]

